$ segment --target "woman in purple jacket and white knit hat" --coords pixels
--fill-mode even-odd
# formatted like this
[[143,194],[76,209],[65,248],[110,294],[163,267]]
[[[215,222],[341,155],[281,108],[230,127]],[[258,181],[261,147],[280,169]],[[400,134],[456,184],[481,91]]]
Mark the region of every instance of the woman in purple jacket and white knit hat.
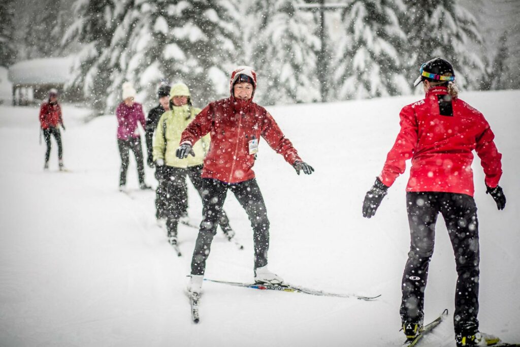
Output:
[[118,118],[118,147],[121,156],[121,170],[119,176],[119,190],[126,186],[126,171],[128,170],[129,150],[132,150],[137,162],[137,176],[139,188],[150,189],[145,183],[145,164],[142,158],[141,135],[137,130],[137,123],[145,128],[145,113],[141,104],[134,101],[136,91],[132,83],[123,83],[123,102],[115,110]]

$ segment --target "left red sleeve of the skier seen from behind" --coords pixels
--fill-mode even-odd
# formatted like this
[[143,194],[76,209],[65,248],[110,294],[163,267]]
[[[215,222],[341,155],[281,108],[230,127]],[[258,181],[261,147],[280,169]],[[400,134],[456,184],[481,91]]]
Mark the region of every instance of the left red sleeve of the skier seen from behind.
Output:
[[406,160],[411,159],[418,142],[418,126],[411,106],[402,108],[399,114],[401,130],[394,146],[386,156],[386,162],[379,179],[386,186],[394,184],[397,176],[405,172]]

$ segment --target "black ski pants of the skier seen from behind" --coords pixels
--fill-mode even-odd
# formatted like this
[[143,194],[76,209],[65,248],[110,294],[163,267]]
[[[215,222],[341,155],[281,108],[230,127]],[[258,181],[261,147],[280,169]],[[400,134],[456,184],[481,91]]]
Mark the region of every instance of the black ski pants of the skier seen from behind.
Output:
[[478,330],[479,246],[477,207],[473,197],[448,192],[407,192],[410,252],[402,276],[402,322],[423,320],[424,290],[440,212],[446,222],[457,266],[453,323],[456,333]]

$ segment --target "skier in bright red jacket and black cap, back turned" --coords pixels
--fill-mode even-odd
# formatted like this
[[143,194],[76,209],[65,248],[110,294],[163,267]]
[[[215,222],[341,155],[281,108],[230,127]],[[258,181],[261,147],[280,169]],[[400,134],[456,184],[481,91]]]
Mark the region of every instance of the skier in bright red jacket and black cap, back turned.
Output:
[[457,346],[494,344],[500,339],[478,331],[478,221],[471,163],[475,150],[486,175],[486,192],[502,210],[505,196],[498,185],[502,155],[484,115],[458,98],[451,64],[435,58],[424,63],[420,72],[415,85],[422,82],[426,97],[402,108],[401,130],[363,201],[363,216],[375,214],[388,187],[411,159],[406,188],[411,245],[400,307],[405,335],[413,341],[423,328],[424,290],[440,212],[457,263],[453,315]]

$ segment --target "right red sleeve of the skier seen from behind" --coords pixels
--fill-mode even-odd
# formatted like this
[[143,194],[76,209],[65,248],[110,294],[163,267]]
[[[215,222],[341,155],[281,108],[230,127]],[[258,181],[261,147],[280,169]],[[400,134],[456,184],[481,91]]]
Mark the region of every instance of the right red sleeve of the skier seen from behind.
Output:
[[502,155],[498,151],[497,146],[495,146],[495,142],[493,142],[495,134],[491,131],[489,124],[486,125],[484,132],[477,138],[475,151],[480,158],[480,165],[482,165],[486,175],[486,185],[495,188],[498,186],[502,176]]

